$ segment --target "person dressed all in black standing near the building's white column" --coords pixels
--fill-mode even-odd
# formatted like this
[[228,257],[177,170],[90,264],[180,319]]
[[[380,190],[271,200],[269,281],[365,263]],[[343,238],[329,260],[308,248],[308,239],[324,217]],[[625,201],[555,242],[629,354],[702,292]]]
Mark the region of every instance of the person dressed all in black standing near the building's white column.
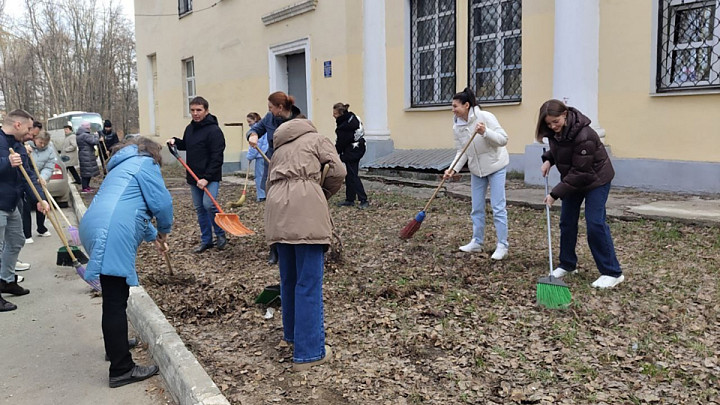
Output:
[[360,180],[360,159],[365,155],[365,137],[360,119],[351,111],[350,105],[336,103],[333,105],[333,117],[337,128],[335,149],[340,160],[345,163],[347,175],[345,176],[345,201],[337,203],[339,207],[352,207],[355,197],[360,201],[358,208],[365,209],[370,206],[367,201],[365,188]]

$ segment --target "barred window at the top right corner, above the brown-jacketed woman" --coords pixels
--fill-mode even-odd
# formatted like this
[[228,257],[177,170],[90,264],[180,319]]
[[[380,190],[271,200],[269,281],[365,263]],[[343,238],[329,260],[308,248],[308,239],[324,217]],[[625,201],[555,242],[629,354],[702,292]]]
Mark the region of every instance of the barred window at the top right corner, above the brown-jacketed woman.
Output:
[[660,0],[657,91],[720,88],[720,0]]

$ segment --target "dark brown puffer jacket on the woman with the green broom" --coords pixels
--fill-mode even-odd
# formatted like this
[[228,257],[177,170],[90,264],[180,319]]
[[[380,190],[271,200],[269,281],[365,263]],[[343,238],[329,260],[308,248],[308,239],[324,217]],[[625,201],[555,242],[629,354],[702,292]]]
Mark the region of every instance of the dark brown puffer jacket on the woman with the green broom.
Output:
[[550,150],[542,156],[543,162],[549,160],[560,172],[560,183],[550,192],[560,199],[600,187],[615,177],[605,145],[590,127],[590,118],[569,107],[566,123],[561,133],[548,137]]

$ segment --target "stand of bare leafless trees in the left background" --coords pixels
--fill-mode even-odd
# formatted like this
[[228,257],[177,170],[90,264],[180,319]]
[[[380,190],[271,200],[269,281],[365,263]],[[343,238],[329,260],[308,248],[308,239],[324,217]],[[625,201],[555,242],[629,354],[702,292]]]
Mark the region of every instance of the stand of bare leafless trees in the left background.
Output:
[[[0,11],[5,0],[0,0]],[[24,0],[24,14],[0,14],[0,95],[39,118],[99,112],[138,128],[135,39],[120,5],[96,0]]]

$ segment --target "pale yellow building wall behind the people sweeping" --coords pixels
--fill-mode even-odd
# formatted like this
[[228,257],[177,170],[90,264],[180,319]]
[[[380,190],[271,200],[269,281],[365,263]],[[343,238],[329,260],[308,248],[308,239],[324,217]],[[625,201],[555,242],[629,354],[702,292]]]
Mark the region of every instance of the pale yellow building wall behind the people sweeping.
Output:
[[[652,77],[656,55],[654,36],[658,0],[600,0],[600,66],[598,123],[605,142],[623,170],[652,167],[673,170],[663,162],[680,163],[692,173],[703,162],[703,173],[720,167],[720,115],[709,113],[720,105],[720,94],[655,95]],[[181,61],[193,57],[197,95],[210,102],[211,113],[224,123],[243,122],[245,115],[267,111],[269,49],[306,38],[309,44],[309,118],[319,131],[334,139],[332,104],[342,101],[361,118],[363,104],[363,2],[319,0],[314,11],[269,26],[263,15],[296,4],[290,0],[247,2],[195,0],[193,12],[177,16],[177,3],[140,1],[135,4],[140,131],[150,128],[151,87],[148,56],[157,57],[159,139],[182,136],[190,121],[185,116]],[[457,90],[468,81],[468,0],[456,3]],[[553,41],[555,0],[524,0],[522,15],[522,101],[483,107],[494,113],[510,136],[513,166],[534,167],[535,125],[539,106],[553,97]],[[409,107],[410,0],[386,0],[386,58],[388,126],[395,148],[452,148],[452,112],[449,106]],[[144,17],[143,14],[162,14]],[[332,62],[332,77],[323,76],[323,62]],[[582,61],[578,61],[581,63]],[[369,102],[372,102],[371,100]],[[307,113],[307,112],[306,112]],[[241,127],[222,126],[228,148],[228,168],[241,162],[247,150]],[[530,149],[528,149],[530,147]],[[620,164],[621,163],[621,164]],[[708,164],[709,163],[709,164]],[[246,164],[246,163],[243,163]],[[658,176],[666,177],[664,174]],[[619,171],[618,177],[623,176]],[[646,178],[647,179],[647,178]],[[666,181],[667,179],[663,180]],[[660,185],[660,184],[663,185]],[[676,183],[692,183],[688,179]],[[661,181],[650,188],[672,189]],[[685,186],[687,186],[685,184]],[[627,184],[633,185],[633,184]],[[711,190],[713,184],[690,186]]]

